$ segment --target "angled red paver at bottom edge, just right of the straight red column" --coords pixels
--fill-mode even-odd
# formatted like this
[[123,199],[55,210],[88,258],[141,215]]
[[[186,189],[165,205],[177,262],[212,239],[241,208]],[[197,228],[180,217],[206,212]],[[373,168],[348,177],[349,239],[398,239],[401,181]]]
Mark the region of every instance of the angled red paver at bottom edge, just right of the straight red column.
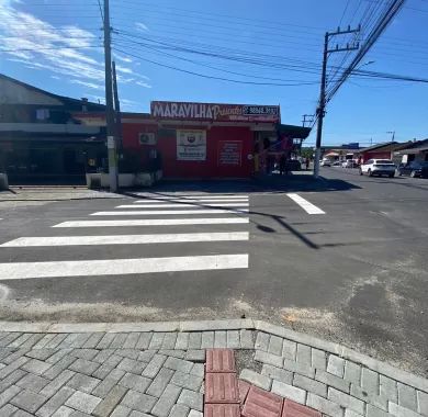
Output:
[[281,417],[283,399],[257,386],[251,386],[245,402],[244,417]]

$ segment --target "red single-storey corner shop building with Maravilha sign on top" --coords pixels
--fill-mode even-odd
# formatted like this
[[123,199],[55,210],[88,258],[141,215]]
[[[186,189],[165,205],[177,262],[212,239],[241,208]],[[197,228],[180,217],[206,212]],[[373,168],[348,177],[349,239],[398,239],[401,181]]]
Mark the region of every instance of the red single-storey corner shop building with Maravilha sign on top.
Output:
[[[105,125],[103,113],[75,114]],[[122,150],[165,178],[248,178],[290,156],[309,134],[280,124],[278,105],[151,102],[150,114],[122,114]]]

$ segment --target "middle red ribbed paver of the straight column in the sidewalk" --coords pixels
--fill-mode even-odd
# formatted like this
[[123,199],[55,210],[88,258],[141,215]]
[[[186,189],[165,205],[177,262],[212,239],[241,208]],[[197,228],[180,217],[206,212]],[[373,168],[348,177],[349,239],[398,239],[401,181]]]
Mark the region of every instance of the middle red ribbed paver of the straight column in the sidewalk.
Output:
[[205,374],[205,403],[239,403],[236,373]]

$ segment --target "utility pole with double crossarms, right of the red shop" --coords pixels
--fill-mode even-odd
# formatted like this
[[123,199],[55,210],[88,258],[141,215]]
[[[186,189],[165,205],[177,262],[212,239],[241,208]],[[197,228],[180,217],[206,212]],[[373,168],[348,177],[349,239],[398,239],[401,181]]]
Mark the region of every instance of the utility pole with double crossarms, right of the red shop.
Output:
[[318,121],[317,131],[316,131],[316,144],[315,144],[315,161],[314,161],[314,177],[318,178],[319,176],[319,158],[320,158],[320,145],[323,138],[323,122],[324,116],[326,114],[326,88],[327,88],[327,60],[329,54],[346,52],[346,50],[356,50],[359,48],[359,44],[349,45],[346,47],[340,47],[336,45],[335,48],[329,49],[329,41],[333,36],[343,35],[347,33],[357,33],[360,32],[360,26],[358,29],[351,29],[348,26],[347,30],[341,31],[340,27],[337,29],[336,32],[326,32],[324,36],[324,52],[323,52],[323,70],[322,70],[322,82],[320,82],[320,91],[319,91],[319,104],[316,110],[316,116]]

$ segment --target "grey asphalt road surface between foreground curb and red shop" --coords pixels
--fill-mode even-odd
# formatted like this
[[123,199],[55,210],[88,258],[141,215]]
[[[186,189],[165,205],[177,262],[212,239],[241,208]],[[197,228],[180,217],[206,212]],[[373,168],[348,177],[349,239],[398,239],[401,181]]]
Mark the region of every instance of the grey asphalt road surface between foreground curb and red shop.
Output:
[[[151,190],[156,198],[213,200],[158,204],[183,204],[170,207],[136,207],[157,204],[136,203],[138,195],[37,205],[0,202],[0,245],[12,243],[0,247],[0,317],[94,322],[245,315],[428,375],[428,180],[360,177],[341,168],[324,168],[322,174],[325,180],[317,183],[275,181],[269,191],[248,183]],[[217,214],[159,214],[216,210],[210,206],[217,204],[215,198],[218,204],[228,203],[222,196],[241,207],[227,205]],[[300,205],[299,198],[315,207],[305,201]],[[133,207],[115,208],[119,205]],[[133,211],[151,213],[119,214]],[[114,215],[92,215],[97,212]],[[182,218],[209,221],[64,224]],[[230,223],[212,224],[212,218]],[[66,227],[52,227],[59,224]],[[204,236],[194,235],[201,233]],[[158,240],[159,235],[177,240],[178,234],[192,235],[185,237],[189,241]],[[110,237],[100,244],[103,235]],[[142,244],[136,239],[147,237],[137,235],[153,236]],[[89,236],[92,244],[71,245],[79,236]],[[32,240],[44,246],[14,240],[22,237],[54,239]],[[156,259],[148,264],[148,258]]]

